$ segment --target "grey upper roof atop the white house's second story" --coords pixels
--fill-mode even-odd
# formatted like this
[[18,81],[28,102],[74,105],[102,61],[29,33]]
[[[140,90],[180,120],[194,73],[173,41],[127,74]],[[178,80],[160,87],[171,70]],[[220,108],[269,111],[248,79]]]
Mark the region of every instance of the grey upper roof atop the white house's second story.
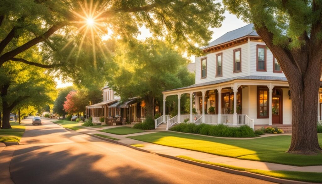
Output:
[[245,36],[259,36],[254,29],[254,24],[251,23],[251,24],[245,25],[244,27],[227,32],[221,37],[217,38],[216,40],[210,42],[208,46],[202,47],[201,49],[206,49],[209,47],[227,43],[232,40],[236,40],[238,38],[242,38]]

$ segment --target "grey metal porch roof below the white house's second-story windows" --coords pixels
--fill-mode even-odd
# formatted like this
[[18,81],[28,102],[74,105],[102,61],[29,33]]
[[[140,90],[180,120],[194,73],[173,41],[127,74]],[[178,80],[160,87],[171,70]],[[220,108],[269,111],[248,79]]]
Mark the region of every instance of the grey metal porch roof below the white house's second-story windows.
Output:
[[193,84],[191,86],[177,88],[177,89],[173,89],[173,90],[167,90],[167,91],[164,91],[164,92],[175,91],[175,90],[180,90],[180,89],[194,88],[194,87],[199,87],[199,86],[207,86],[207,85],[212,85],[212,84],[219,84],[219,83],[223,83],[223,82],[233,81],[233,80],[236,80],[236,79],[244,79],[244,80],[268,80],[268,81],[287,81],[286,77],[273,77],[273,76],[250,75],[250,76],[245,76],[245,77],[232,77],[232,78],[221,79],[221,80],[216,80],[216,81],[210,81],[210,82],[204,82],[204,83],[199,83],[199,84]]

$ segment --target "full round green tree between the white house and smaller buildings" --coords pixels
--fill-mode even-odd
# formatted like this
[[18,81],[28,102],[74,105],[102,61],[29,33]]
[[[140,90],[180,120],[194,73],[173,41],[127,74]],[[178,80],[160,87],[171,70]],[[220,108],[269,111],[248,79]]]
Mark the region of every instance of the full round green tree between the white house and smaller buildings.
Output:
[[115,72],[109,73],[109,86],[123,100],[144,99],[147,115],[151,117],[155,100],[163,99],[162,91],[194,83],[194,75],[186,68],[187,59],[159,40],[120,44],[115,63]]

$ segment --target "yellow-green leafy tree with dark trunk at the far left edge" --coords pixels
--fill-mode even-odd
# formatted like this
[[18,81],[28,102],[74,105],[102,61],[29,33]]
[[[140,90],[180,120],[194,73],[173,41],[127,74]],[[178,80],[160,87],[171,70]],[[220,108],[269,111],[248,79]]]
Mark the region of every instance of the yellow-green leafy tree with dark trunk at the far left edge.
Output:
[[56,83],[44,69],[24,63],[6,62],[0,68],[0,96],[2,99],[2,129],[11,128],[10,112],[17,105],[43,107],[56,97]]

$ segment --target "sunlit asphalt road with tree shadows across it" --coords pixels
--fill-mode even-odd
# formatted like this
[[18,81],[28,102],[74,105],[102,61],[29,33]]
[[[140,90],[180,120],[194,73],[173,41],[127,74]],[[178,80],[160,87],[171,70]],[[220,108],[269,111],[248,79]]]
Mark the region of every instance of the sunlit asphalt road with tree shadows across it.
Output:
[[10,164],[15,184],[25,183],[270,183],[207,169],[67,131],[49,120],[23,121],[26,132]]

